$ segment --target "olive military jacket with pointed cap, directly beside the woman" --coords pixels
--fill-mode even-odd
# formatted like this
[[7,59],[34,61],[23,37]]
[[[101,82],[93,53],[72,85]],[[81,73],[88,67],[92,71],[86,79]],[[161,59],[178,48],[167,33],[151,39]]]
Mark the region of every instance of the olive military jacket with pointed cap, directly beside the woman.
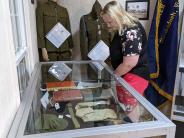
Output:
[[102,8],[98,1],[93,5],[92,11],[80,19],[80,49],[82,60],[88,60],[87,54],[100,41],[110,44],[110,33],[105,28],[99,15]]

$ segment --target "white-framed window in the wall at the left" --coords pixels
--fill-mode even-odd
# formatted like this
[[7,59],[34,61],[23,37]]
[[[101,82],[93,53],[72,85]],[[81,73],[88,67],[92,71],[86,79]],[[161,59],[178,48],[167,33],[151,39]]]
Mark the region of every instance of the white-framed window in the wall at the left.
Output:
[[13,30],[14,48],[16,54],[17,75],[20,97],[22,97],[29,81],[29,60],[26,41],[23,0],[9,0]]

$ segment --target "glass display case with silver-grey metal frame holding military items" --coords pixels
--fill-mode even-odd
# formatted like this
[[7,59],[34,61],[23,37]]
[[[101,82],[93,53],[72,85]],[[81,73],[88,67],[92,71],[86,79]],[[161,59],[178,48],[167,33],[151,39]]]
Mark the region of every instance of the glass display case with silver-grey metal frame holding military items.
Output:
[[[56,66],[58,70],[53,70]],[[118,89],[136,101],[136,121],[127,119],[132,110],[119,102]],[[8,134],[9,138],[156,136],[174,138],[175,125],[100,61],[39,63]]]

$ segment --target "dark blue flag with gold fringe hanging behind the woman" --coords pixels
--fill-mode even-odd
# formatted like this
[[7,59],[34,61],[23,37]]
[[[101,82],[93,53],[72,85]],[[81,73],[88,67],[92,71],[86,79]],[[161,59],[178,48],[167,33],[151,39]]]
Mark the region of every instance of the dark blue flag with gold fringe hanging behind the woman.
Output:
[[172,100],[178,49],[178,0],[158,0],[148,37],[150,84],[146,98],[155,106]]

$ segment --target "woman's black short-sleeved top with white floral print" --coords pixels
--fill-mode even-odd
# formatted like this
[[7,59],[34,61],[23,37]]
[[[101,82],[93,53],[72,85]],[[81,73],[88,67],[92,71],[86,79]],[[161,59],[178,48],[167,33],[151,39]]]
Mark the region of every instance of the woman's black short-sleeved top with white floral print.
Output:
[[123,29],[121,33],[114,35],[110,46],[113,68],[116,69],[123,62],[123,56],[139,55],[137,65],[129,72],[148,79],[147,39],[144,28],[137,23],[135,27]]

